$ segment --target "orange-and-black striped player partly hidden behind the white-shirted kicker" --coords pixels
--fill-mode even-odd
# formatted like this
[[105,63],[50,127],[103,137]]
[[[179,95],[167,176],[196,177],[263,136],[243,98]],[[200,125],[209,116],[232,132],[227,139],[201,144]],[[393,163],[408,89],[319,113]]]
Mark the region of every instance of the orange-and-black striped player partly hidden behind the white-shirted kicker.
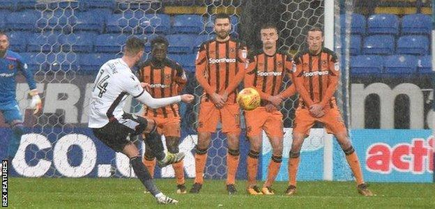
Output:
[[[167,58],[168,46],[169,42],[165,37],[154,38],[151,40],[151,58],[139,65],[139,81],[148,84],[149,92],[153,98],[176,96],[188,82],[181,65]],[[169,153],[178,153],[181,137],[178,104],[169,104],[158,109],[145,106],[144,116],[153,119],[158,127],[158,132],[165,135]],[[153,176],[155,156],[151,147],[146,146],[142,162]],[[176,193],[186,194],[183,160],[172,164],[172,167],[176,178]]]

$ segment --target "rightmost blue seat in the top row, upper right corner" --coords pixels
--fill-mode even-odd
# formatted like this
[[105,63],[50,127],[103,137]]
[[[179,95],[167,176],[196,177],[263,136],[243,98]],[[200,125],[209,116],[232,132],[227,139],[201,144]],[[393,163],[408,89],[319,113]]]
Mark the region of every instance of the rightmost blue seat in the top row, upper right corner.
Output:
[[402,17],[402,34],[430,35],[432,18],[429,15],[413,14]]

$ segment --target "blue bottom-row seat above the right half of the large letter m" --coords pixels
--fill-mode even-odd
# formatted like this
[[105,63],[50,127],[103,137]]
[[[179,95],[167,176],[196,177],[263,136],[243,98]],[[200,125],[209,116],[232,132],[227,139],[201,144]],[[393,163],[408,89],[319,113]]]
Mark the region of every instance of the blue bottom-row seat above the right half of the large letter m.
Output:
[[385,72],[406,75],[417,72],[418,59],[412,55],[390,55],[385,59]]

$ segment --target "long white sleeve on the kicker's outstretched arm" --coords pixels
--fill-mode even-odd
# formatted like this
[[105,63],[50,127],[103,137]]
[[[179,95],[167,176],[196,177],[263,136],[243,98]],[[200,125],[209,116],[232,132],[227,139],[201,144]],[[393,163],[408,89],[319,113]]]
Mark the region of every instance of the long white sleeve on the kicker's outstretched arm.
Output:
[[181,102],[181,96],[179,95],[170,98],[153,98],[144,88],[142,88],[139,79],[132,74],[123,81],[123,90],[127,91],[127,93],[132,95],[133,98],[139,100],[139,102],[151,107],[152,109]]

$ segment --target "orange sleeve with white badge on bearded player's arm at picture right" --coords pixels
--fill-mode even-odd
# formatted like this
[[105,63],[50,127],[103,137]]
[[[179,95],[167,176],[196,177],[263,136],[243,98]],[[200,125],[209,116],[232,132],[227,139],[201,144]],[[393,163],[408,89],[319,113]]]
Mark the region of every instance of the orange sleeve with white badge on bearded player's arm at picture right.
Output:
[[238,55],[236,58],[236,68],[237,68],[237,74],[236,77],[232,80],[232,82],[229,83],[228,87],[225,89],[225,92],[230,93],[234,91],[234,88],[242,82],[243,77],[245,76],[245,70],[247,68],[247,47],[241,43],[241,45],[238,47]]

